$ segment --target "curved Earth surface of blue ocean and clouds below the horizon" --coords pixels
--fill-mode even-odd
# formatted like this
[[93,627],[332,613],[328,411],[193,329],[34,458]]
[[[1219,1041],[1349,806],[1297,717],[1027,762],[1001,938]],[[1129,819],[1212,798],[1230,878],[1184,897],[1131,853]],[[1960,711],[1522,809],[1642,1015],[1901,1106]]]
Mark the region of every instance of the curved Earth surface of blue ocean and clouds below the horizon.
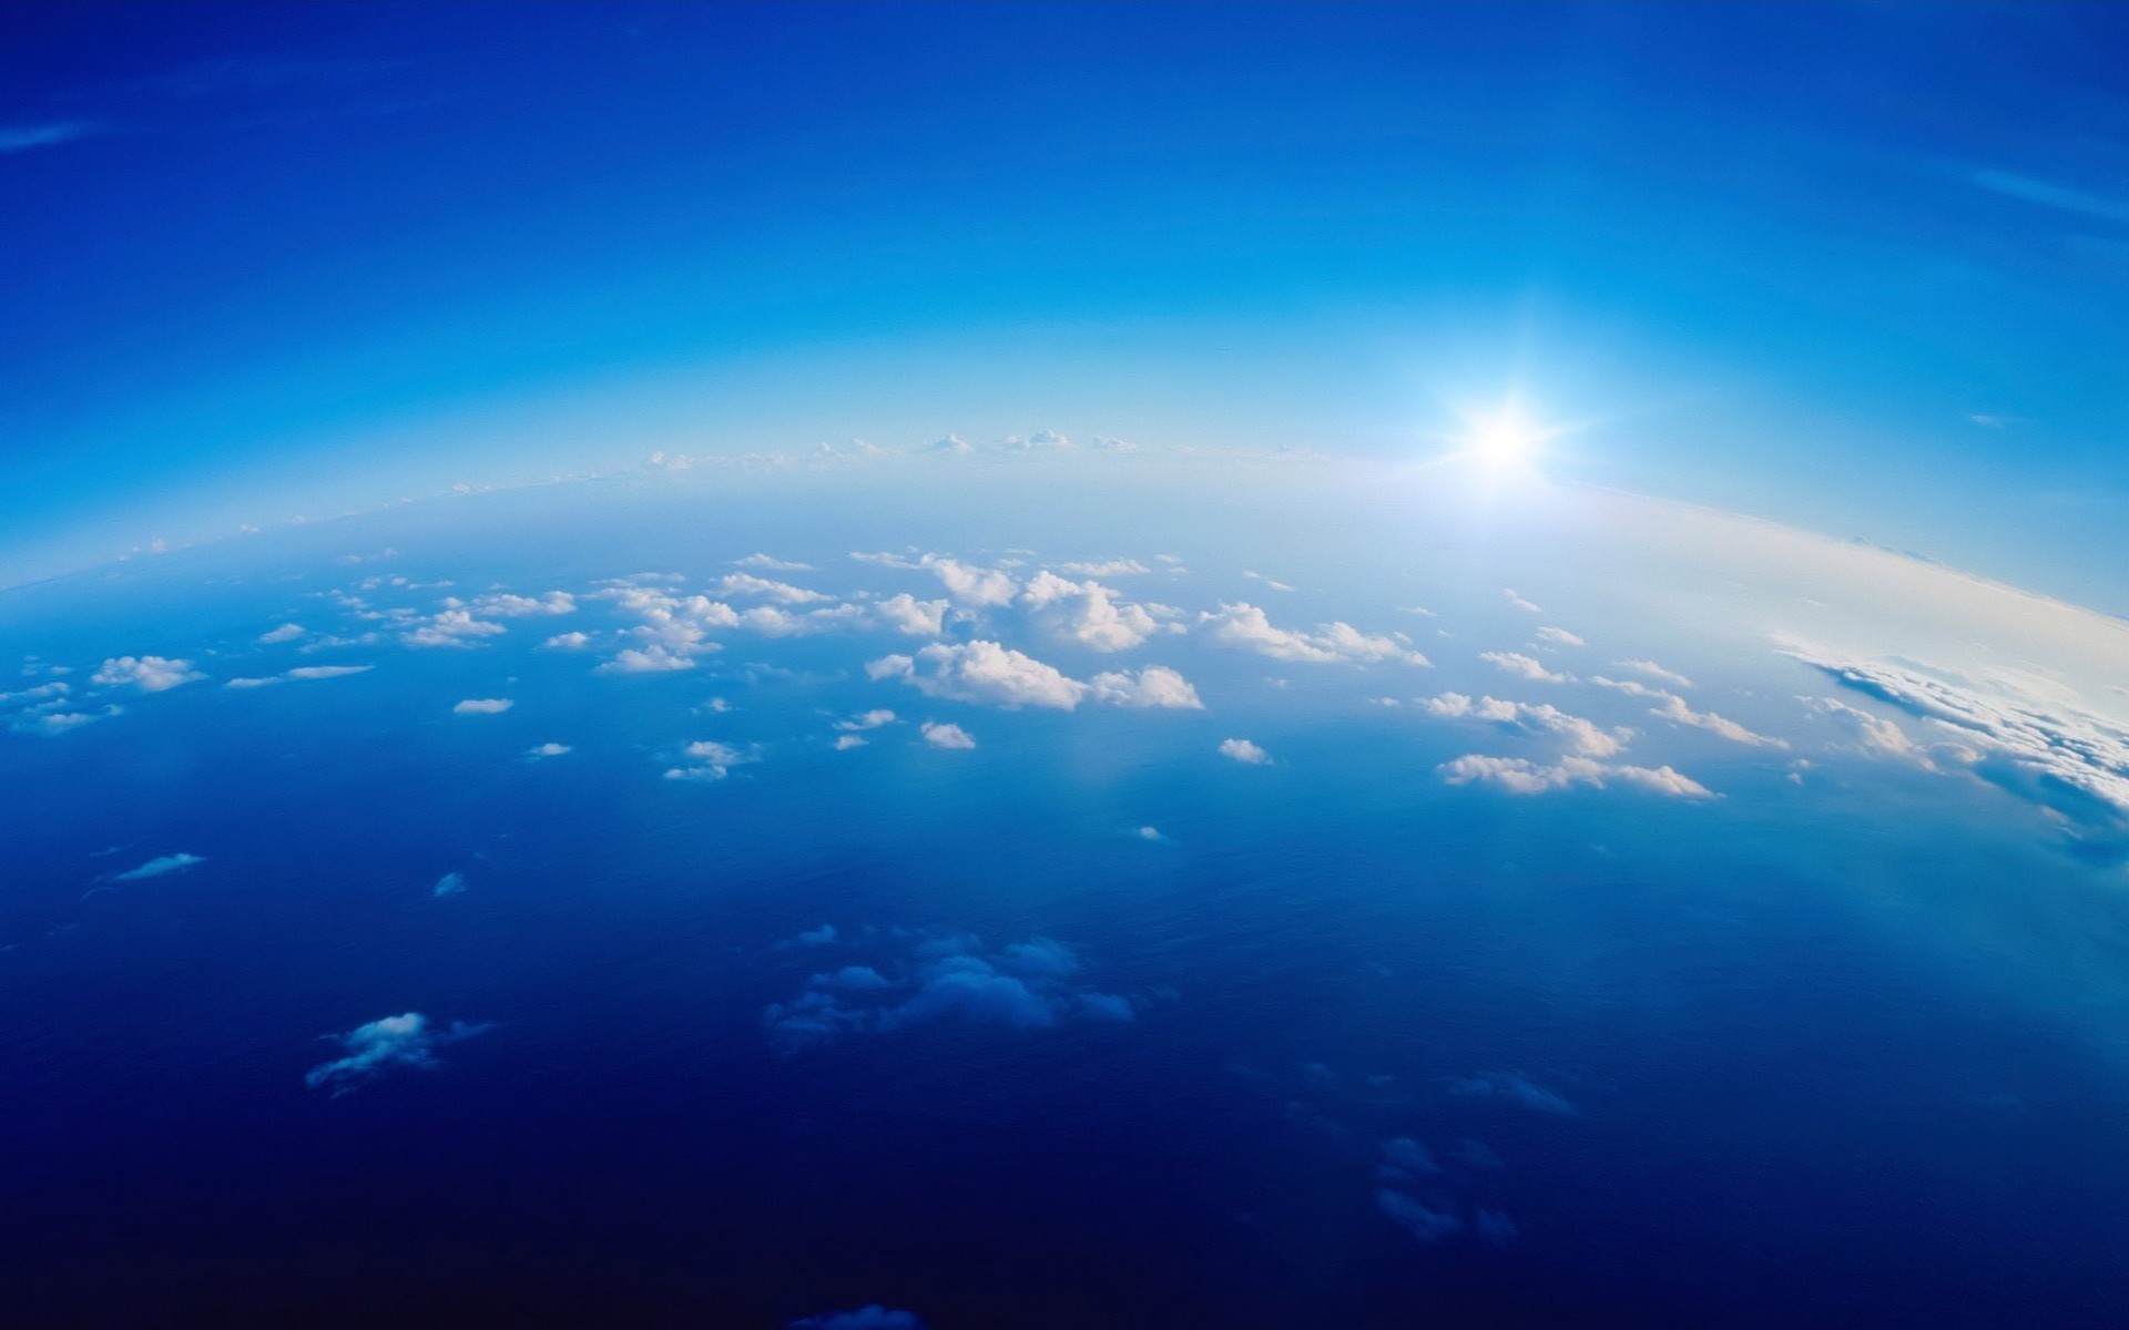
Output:
[[2129,626],[1443,470],[673,462],[0,596],[15,1313],[2118,1324]]

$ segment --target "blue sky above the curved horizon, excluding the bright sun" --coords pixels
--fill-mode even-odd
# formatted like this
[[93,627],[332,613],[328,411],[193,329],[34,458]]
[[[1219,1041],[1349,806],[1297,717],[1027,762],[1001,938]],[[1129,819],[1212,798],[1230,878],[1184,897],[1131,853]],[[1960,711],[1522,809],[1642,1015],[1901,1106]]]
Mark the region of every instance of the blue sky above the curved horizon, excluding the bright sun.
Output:
[[11,6],[0,581],[654,447],[1437,447],[2129,611],[2101,6]]

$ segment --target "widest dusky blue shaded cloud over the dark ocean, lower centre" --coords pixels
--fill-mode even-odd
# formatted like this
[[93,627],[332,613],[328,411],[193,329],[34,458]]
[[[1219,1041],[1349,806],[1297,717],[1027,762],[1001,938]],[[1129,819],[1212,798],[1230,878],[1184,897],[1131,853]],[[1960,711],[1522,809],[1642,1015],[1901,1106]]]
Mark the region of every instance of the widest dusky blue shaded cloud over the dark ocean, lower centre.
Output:
[[818,972],[798,998],[769,1007],[769,1041],[792,1053],[941,1021],[1028,1032],[1135,1017],[1128,998],[1086,983],[1079,955],[1054,938],[990,951],[975,936],[896,930],[884,943],[869,964]]

